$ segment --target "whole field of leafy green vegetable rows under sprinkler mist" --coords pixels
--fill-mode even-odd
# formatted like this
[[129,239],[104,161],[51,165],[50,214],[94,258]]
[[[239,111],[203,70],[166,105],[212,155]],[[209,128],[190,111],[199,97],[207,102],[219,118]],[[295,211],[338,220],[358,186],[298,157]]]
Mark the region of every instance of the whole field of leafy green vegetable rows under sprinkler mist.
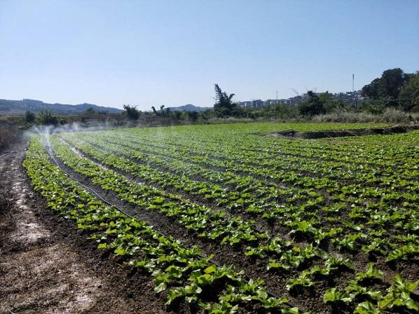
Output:
[[[31,135],[24,167],[168,311],[417,313],[419,131],[223,124]],[[183,311],[183,310],[182,310]]]

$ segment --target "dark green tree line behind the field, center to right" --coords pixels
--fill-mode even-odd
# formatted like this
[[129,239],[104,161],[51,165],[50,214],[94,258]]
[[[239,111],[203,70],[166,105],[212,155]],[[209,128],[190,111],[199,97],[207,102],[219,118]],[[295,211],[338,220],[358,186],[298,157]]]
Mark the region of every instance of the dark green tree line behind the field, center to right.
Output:
[[[404,73],[401,68],[385,70],[381,77],[377,77],[371,83],[362,87],[361,94],[364,99],[356,102],[335,100],[328,91],[324,93],[307,91],[306,98],[297,105],[277,103],[261,108],[243,108],[233,100],[235,94],[228,94],[223,91],[219,84],[214,84],[214,94],[215,103],[212,110],[205,112],[171,112],[162,105],[160,110],[152,107],[152,112],[157,117],[189,121],[229,117],[249,119],[281,117],[287,119],[313,117],[337,110],[383,114],[389,107],[404,112],[419,112],[419,71]],[[137,110],[136,107],[124,105],[124,109],[130,119],[138,119],[141,114],[145,114]]]

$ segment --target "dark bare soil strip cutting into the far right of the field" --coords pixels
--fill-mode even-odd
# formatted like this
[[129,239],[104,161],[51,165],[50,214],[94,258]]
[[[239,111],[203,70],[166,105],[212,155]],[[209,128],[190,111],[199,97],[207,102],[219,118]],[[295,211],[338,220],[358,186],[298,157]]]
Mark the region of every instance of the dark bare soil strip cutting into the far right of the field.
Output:
[[263,134],[265,136],[273,137],[288,137],[297,139],[314,140],[318,138],[327,137],[344,137],[344,136],[361,136],[361,135],[374,135],[374,134],[396,134],[406,133],[411,130],[418,130],[419,126],[389,126],[386,128],[365,128],[365,129],[354,129],[354,130],[328,130],[328,131],[311,131],[311,132],[300,132],[295,130],[284,130],[278,132],[272,132]]

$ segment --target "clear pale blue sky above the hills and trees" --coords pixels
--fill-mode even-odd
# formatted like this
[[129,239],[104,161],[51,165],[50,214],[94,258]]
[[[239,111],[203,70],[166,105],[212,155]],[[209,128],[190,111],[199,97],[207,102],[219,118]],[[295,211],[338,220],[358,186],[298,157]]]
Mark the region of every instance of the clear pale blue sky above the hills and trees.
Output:
[[0,0],[0,98],[211,106],[419,70],[419,1]]

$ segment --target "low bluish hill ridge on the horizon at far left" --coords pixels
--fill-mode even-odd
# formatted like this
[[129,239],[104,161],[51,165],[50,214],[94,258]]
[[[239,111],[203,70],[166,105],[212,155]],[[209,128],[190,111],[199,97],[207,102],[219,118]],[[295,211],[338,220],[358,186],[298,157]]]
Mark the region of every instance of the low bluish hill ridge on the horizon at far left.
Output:
[[54,114],[80,114],[89,108],[96,112],[119,113],[123,110],[82,103],[80,105],[63,105],[61,103],[43,103],[40,100],[6,100],[0,99],[0,114],[24,114],[27,111],[40,112],[41,110],[51,110]]

